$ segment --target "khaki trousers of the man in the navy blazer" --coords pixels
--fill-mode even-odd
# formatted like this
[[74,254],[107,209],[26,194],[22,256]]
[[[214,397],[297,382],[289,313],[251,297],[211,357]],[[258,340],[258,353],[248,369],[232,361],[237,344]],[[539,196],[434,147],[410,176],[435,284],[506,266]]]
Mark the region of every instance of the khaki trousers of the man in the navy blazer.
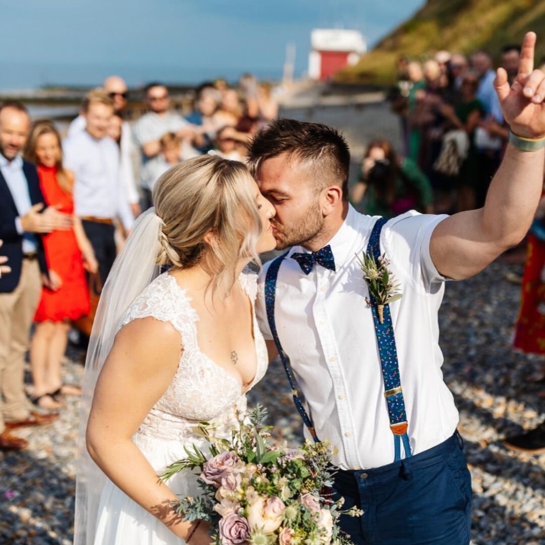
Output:
[[40,302],[41,274],[36,259],[23,259],[21,278],[11,293],[0,293],[0,433],[4,421],[25,420],[25,353]]

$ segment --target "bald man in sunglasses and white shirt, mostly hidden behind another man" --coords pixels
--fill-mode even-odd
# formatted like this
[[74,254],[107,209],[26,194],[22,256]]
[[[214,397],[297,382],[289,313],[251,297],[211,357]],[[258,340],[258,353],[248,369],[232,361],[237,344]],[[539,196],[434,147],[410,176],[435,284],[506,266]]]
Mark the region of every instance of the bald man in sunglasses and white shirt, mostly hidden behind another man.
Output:
[[[125,110],[128,105],[127,97],[129,90],[127,84],[122,77],[108,76],[104,83],[102,83],[102,89],[113,100],[113,108],[116,114],[118,114],[123,122],[121,124],[121,136],[119,139],[119,178],[123,187],[125,188],[126,196],[129,199],[131,205],[132,214],[137,217],[140,212],[140,195],[136,189],[136,177],[134,169],[134,155],[135,146],[132,138],[132,130],[129,122],[125,121]],[[78,132],[85,130],[86,118],[84,113],[80,113],[68,127],[68,136],[74,136]]]

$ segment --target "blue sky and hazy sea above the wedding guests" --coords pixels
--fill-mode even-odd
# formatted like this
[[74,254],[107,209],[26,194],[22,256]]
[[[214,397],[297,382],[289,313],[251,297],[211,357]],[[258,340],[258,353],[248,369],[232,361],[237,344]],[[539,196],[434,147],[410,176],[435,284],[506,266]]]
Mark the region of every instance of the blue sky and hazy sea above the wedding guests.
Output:
[[361,30],[373,43],[423,0],[0,0],[0,88],[94,84],[111,72],[129,84],[195,83],[242,71],[278,77],[286,44],[296,75],[312,28]]

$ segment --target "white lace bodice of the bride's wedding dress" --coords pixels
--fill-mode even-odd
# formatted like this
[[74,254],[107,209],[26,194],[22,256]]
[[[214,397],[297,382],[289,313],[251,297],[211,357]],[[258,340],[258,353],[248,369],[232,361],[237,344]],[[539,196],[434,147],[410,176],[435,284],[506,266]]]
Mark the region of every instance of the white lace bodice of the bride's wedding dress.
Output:
[[[263,378],[267,371],[268,356],[253,310],[257,295],[257,275],[245,270],[239,281],[252,301],[257,353],[256,376],[247,388],[248,391]],[[231,426],[236,411],[246,409],[245,392],[237,378],[199,350],[197,312],[191,306],[191,298],[186,291],[168,273],[155,278],[132,302],[119,329],[131,320],[146,317],[171,323],[181,335],[183,354],[167,391],[150,410],[136,435],[181,439],[191,435],[192,428],[203,420],[213,423],[220,430]]]

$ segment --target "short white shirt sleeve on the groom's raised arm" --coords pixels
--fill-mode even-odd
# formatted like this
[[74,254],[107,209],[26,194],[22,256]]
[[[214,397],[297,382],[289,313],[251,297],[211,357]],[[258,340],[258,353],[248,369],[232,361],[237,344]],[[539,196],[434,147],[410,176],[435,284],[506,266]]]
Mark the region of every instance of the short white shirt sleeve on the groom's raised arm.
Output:
[[[386,223],[381,237],[383,251],[395,270],[404,274],[417,289],[434,292],[434,286],[447,280],[439,274],[429,253],[429,241],[446,214],[419,214],[414,210]],[[400,278],[401,280],[401,278]]]

